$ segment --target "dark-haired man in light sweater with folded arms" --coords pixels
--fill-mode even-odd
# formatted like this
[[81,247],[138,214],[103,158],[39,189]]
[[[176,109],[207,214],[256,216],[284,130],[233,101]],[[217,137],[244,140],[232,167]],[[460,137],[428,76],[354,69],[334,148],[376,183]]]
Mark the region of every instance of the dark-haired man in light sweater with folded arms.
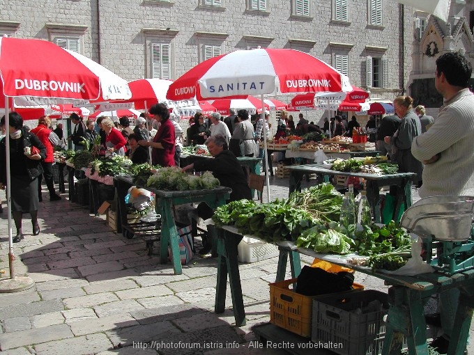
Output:
[[[444,103],[427,132],[413,139],[413,157],[425,164],[420,197],[474,196],[474,94],[469,90],[471,63],[459,53],[445,53],[436,60],[434,85]],[[450,337],[459,332],[454,315],[459,289],[440,294],[443,336],[431,346],[440,354],[448,351]]]

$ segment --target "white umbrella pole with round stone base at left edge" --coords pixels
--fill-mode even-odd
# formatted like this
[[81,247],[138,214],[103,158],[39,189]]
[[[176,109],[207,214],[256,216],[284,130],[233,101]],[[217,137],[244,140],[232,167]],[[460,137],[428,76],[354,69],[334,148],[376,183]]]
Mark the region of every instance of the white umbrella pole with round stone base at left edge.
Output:
[[10,267],[10,278],[0,281],[0,293],[20,292],[33,287],[33,279],[29,277],[15,277],[15,253],[13,253],[13,233],[12,233],[12,205],[10,194],[10,109],[8,107],[8,97],[5,97],[5,143],[6,143],[6,204],[8,214],[8,266]]

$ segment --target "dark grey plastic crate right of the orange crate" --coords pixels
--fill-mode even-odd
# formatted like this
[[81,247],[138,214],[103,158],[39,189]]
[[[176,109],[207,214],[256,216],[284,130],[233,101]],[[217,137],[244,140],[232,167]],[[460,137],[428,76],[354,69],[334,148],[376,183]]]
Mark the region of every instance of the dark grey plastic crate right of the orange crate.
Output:
[[381,354],[387,313],[388,294],[376,290],[319,297],[313,301],[311,340],[342,344],[331,349],[340,355]]

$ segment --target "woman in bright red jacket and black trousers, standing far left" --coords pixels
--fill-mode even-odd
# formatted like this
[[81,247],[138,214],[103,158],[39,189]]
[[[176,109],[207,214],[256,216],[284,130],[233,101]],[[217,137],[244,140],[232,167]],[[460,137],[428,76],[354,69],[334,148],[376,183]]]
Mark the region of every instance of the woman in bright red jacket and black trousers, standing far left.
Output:
[[[57,201],[61,200],[61,196],[56,194],[54,191],[54,181],[53,181],[53,163],[54,163],[54,155],[53,155],[53,145],[49,141],[49,134],[51,133],[51,119],[48,116],[42,116],[38,119],[38,126],[31,129],[31,133],[35,134],[45,145],[46,147],[46,157],[44,160],[41,161],[41,166],[43,167],[43,176],[45,177],[45,182],[47,186],[47,190],[49,191],[49,200]],[[41,196],[41,175],[38,176],[38,198],[40,202],[43,200],[43,196]]]

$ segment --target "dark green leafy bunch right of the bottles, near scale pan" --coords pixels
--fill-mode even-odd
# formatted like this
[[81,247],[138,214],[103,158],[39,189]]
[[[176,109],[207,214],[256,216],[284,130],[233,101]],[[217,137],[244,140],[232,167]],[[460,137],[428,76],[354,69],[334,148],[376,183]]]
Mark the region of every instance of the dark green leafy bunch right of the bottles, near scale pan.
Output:
[[355,231],[355,251],[359,255],[377,255],[397,253],[409,255],[411,251],[411,237],[405,228],[398,222],[390,221],[386,226],[375,224],[362,226],[362,230]]

